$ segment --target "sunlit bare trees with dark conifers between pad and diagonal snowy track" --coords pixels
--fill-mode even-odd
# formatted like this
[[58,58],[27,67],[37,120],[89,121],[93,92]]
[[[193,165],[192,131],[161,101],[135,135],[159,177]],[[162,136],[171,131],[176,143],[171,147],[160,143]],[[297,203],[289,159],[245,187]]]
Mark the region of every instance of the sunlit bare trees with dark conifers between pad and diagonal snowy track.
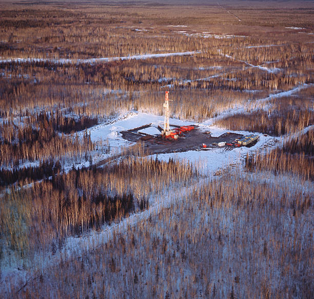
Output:
[[151,193],[175,182],[187,184],[195,174],[188,164],[143,158],[91,170],[58,171],[50,180],[19,192],[12,189],[2,198],[0,236],[15,254],[30,258],[33,250],[49,250],[52,241],[61,246],[67,236],[147,208]]

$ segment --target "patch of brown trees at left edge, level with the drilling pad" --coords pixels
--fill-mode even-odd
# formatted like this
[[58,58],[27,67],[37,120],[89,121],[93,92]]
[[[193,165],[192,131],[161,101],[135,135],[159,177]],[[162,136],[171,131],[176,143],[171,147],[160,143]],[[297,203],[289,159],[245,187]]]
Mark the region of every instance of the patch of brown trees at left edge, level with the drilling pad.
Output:
[[[45,114],[46,115],[46,114]],[[31,118],[29,118],[31,119]],[[83,138],[78,135],[61,136],[55,129],[71,130],[76,125],[58,124],[52,117],[47,118],[44,114],[37,115],[36,122],[28,119],[24,126],[17,127],[14,122],[3,122],[0,127],[0,166],[18,166],[27,161],[38,161],[49,158],[61,158],[63,156],[83,157],[84,154],[93,150],[95,145],[91,142],[90,135],[84,133]],[[62,118],[62,121],[68,118]]]

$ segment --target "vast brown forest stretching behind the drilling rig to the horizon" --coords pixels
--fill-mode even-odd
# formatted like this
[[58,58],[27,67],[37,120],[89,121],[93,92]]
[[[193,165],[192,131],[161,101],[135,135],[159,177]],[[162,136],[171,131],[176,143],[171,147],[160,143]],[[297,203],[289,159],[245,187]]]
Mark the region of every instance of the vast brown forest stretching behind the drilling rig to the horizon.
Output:
[[[189,6],[181,6],[178,10],[168,5],[150,8],[139,4],[136,9],[129,6],[127,11],[119,5],[94,4],[87,8],[85,4],[77,4],[77,7],[69,8],[66,4],[52,4],[51,9],[44,6],[40,10],[24,5],[25,10],[21,6],[21,9],[0,11],[8,21],[0,30],[1,56],[4,58],[84,59],[201,52],[192,57],[92,65],[2,62],[0,115],[5,117],[26,113],[26,109],[32,112],[34,108],[54,109],[56,106],[72,107],[77,114],[87,113],[93,117],[108,117],[131,108],[160,114],[161,91],[168,88],[162,86],[173,84],[173,98],[178,101],[173,103],[173,116],[199,121],[242,104],[248,98],[267,95],[269,89],[288,90],[300,83],[313,82],[311,35],[308,34],[313,29],[311,10],[292,9],[282,13],[280,9],[261,9],[255,4],[256,8],[252,9],[256,9],[256,13],[243,9],[239,23],[223,9],[224,6],[217,4],[202,7],[198,12]],[[61,10],[60,5],[65,5],[64,9]],[[159,16],[152,17],[152,12],[153,15],[158,12]],[[239,11],[235,9],[234,13],[238,15]],[[265,15],[267,22],[271,16],[277,25],[271,31],[258,27],[256,32],[251,22],[265,24]],[[36,34],[32,29],[34,20],[43,21],[43,28]],[[302,26],[300,20],[304,23]],[[47,22],[52,25],[46,27]],[[221,22],[222,27],[218,25]],[[297,26],[291,22],[306,27],[304,34],[283,27]],[[224,37],[222,34],[226,31],[231,36]],[[203,32],[212,36],[204,37]],[[220,38],[215,38],[215,34]],[[225,57],[225,54],[233,58]],[[278,72],[269,73],[248,63],[278,68]],[[259,90],[260,93],[249,94],[246,90]]]

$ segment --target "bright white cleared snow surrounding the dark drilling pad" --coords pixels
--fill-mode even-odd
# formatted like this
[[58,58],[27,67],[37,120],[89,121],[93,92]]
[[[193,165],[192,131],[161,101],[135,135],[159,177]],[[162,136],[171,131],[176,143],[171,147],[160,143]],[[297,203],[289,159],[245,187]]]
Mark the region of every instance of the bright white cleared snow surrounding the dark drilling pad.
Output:
[[[285,93],[284,93],[285,94]],[[233,113],[233,111],[228,111],[224,114],[224,116]],[[218,137],[226,132],[234,132],[239,134],[249,134],[251,132],[247,131],[230,131],[226,129],[222,129],[216,126],[213,126],[214,120],[217,118],[210,118],[203,123],[198,123],[199,130],[202,131],[210,131],[212,136]],[[110,124],[101,124],[94,126],[90,129],[87,129],[88,134],[90,133],[91,139],[93,142],[106,141],[108,140],[110,148],[113,149],[111,155],[119,154],[123,148],[130,147],[135,145],[134,142],[127,141],[123,139],[121,131],[130,130],[133,128],[137,128],[146,124],[150,124],[151,126],[147,129],[142,129],[140,132],[144,132],[147,134],[156,134],[159,131],[154,128],[158,125],[163,127],[164,124],[164,116],[152,115],[141,112],[131,112],[117,118],[116,121],[111,122]],[[183,126],[190,125],[191,122],[181,121],[180,119],[170,118],[170,125],[175,126]],[[84,134],[81,132],[80,134]],[[278,138],[274,138],[271,136],[264,136],[263,134],[257,133],[260,138],[256,145],[251,148],[240,147],[233,148],[230,150],[229,148],[214,148],[206,151],[186,151],[186,152],[176,152],[176,153],[167,153],[167,154],[158,154],[159,160],[168,161],[169,158],[174,158],[175,160],[186,161],[194,164],[195,166],[200,167],[200,171],[206,174],[212,174],[215,171],[225,168],[230,164],[238,164],[243,157],[246,156],[248,152],[258,150],[259,148],[264,148],[268,144],[273,145],[277,142]],[[100,162],[105,158],[109,157],[108,154],[103,154],[99,156],[93,157],[93,163]],[[155,154],[152,155],[155,158]],[[86,166],[88,166],[88,162],[86,162]],[[79,166],[81,167],[81,166]]]

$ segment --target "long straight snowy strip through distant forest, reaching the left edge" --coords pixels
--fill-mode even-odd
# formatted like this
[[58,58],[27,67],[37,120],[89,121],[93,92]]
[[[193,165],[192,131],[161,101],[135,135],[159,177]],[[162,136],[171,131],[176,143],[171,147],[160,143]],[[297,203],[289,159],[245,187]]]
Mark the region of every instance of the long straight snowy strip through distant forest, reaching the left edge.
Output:
[[185,56],[200,53],[200,51],[189,52],[175,52],[175,53],[160,53],[160,54],[141,54],[129,55],[120,57],[102,57],[102,58],[89,58],[89,59],[66,59],[66,58],[0,58],[3,63],[31,63],[31,62],[49,62],[54,64],[93,64],[93,63],[108,63],[112,61],[130,60],[130,59],[149,59],[170,56]]

